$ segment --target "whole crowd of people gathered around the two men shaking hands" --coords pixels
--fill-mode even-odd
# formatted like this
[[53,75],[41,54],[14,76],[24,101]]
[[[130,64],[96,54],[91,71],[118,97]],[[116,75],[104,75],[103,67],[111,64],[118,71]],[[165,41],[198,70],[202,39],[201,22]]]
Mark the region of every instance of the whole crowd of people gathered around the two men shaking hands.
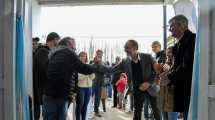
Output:
[[[155,56],[142,53],[136,40],[124,45],[126,58],[116,57],[110,65],[97,50],[90,62],[86,51],[76,53],[75,39],[47,35],[46,45],[33,38],[34,119],[66,120],[70,104],[75,103],[76,120],[86,120],[90,99],[94,115],[100,114],[100,102],[106,112],[106,98],[112,97],[112,108],[125,109],[133,120],[187,120],[194,59],[195,34],[188,29],[188,19],[177,15],[169,20],[177,43],[161,50],[152,42]],[[77,46],[78,47],[78,46]],[[42,111],[41,111],[42,107]],[[151,109],[149,112],[149,109]]]

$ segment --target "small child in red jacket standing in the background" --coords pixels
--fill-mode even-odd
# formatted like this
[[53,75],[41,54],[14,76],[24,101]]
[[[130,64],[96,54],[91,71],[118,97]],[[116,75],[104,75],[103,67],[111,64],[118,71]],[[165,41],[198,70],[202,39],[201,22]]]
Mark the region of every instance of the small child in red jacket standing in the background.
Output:
[[126,85],[127,85],[127,75],[125,73],[121,73],[119,80],[116,82],[118,98],[119,98],[119,109],[122,108],[122,101],[124,98]]

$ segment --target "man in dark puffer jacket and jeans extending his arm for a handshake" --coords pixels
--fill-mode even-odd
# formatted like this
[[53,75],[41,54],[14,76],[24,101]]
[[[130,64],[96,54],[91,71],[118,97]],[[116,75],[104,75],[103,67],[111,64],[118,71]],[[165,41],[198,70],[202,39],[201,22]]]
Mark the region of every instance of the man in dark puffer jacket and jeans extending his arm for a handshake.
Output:
[[[96,68],[82,63],[75,53],[75,40],[63,38],[49,53],[47,84],[44,89],[44,120],[66,120],[71,92],[76,92],[77,75]],[[75,84],[74,84],[75,83]]]

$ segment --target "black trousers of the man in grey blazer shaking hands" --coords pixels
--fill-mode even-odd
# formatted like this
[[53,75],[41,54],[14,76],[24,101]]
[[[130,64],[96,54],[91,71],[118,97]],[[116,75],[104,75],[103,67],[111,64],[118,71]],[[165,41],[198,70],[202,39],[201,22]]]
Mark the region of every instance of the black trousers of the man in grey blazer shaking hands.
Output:
[[152,97],[149,95],[148,92],[142,92],[138,89],[134,89],[133,92],[134,92],[134,117],[133,117],[133,120],[141,120],[145,95],[149,96],[149,100],[151,103],[151,108],[152,108],[155,120],[161,120],[161,114],[160,114],[160,111],[157,107],[156,97]]

